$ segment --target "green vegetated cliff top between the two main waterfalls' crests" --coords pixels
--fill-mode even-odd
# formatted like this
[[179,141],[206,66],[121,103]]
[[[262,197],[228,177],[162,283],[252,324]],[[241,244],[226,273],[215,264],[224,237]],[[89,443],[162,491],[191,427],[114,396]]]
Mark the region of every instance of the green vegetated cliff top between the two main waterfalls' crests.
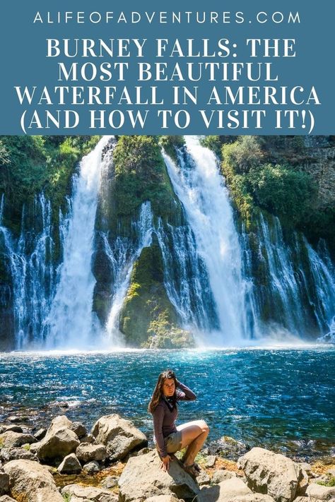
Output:
[[144,201],[151,201],[153,213],[165,220],[180,216],[157,136],[120,136],[114,150],[114,170],[112,226],[119,217],[135,215]]

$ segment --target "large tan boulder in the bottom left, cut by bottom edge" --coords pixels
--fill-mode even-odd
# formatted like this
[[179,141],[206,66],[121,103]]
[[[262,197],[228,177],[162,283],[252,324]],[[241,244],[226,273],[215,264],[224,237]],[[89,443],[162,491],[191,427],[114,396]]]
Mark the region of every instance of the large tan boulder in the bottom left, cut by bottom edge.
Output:
[[64,502],[52,474],[31,460],[12,460],[4,465],[9,476],[10,495],[24,502]]

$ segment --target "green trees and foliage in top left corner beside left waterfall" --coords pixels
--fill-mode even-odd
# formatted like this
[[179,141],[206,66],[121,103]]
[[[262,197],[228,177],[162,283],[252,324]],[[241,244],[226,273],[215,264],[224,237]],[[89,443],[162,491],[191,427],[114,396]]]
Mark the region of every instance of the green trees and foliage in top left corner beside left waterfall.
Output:
[[0,192],[10,208],[8,227],[18,232],[23,204],[32,203],[41,191],[55,208],[62,206],[76,162],[98,140],[99,136],[1,136]]

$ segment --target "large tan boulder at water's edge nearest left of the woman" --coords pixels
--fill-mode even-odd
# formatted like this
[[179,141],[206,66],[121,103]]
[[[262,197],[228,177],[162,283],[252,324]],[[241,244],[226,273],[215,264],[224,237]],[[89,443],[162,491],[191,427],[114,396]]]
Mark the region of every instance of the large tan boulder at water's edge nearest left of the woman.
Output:
[[122,460],[131,450],[148,444],[145,434],[118,414],[101,417],[95,422],[92,434],[96,443],[107,447],[110,460]]

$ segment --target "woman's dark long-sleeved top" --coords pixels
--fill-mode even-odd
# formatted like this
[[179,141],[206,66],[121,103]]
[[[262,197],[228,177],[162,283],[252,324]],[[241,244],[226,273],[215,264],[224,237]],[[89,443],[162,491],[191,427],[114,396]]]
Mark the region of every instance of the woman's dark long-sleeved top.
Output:
[[[176,388],[177,401],[194,401],[196,395],[183,383],[177,381]],[[167,451],[165,449],[164,438],[176,432],[175,421],[177,419],[178,410],[177,405],[171,407],[167,401],[162,398],[153,412],[153,431],[155,434],[154,440],[158,447],[158,452],[161,457],[166,457]]]

